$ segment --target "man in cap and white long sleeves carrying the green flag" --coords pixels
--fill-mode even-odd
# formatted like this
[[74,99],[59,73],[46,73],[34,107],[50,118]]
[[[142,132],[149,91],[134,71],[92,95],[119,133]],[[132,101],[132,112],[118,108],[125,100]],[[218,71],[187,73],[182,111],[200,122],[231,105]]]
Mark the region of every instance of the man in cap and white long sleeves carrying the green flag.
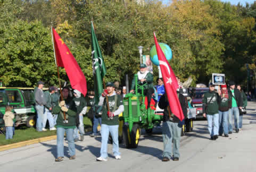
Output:
[[[108,100],[106,100],[108,97]],[[107,105],[108,103],[108,105]],[[120,95],[114,91],[114,84],[109,82],[106,89],[100,97],[98,106],[102,109],[102,125],[101,125],[101,156],[96,158],[97,161],[106,161],[108,157],[108,140],[111,133],[113,140],[113,153],[115,159],[121,159],[118,142],[119,114],[123,112],[123,102]]]

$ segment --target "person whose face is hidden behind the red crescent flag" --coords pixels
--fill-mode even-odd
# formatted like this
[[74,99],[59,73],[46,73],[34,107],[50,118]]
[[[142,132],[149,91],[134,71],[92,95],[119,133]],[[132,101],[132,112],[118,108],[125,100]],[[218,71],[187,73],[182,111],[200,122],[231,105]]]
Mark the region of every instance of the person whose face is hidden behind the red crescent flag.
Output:
[[[187,104],[185,97],[177,92],[179,97],[179,103],[182,108],[184,116],[187,116]],[[169,161],[171,158],[174,161],[179,160],[179,142],[180,133],[182,129],[181,121],[176,115],[174,115],[169,106],[169,101],[167,95],[164,94],[159,100],[158,106],[162,108],[163,111],[163,126],[162,126],[162,136],[163,136],[163,158],[162,161]],[[172,150],[172,141],[174,143],[174,149]],[[173,157],[172,157],[173,155]]]

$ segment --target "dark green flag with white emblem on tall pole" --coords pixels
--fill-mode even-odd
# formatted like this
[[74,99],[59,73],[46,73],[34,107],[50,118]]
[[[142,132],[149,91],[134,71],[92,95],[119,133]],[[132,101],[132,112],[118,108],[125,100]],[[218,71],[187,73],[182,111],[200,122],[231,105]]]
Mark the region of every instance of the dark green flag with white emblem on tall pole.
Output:
[[92,22],[92,56],[93,56],[95,102],[98,103],[98,99],[103,91],[102,80],[106,74],[106,67],[104,64],[104,59],[102,57],[100,46],[98,46],[98,40],[95,35],[93,22]]

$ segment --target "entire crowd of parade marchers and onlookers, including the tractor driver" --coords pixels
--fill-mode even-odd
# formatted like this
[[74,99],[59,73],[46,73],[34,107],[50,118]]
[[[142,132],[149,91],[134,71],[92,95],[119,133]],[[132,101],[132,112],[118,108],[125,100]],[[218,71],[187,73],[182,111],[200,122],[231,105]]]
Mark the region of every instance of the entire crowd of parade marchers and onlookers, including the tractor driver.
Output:
[[[169,107],[167,95],[164,90],[163,79],[158,78],[158,85],[153,86],[153,75],[145,70],[146,65],[141,64],[137,73],[137,84],[145,85],[144,94],[147,97],[147,108],[152,100],[158,102],[163,110],[162,137],[163,137],[163,158],[162,161],[179,160],[179,143],[181,128],[184,120],[180,121]],[[135,80],[131,85],[130,93],[134,93]],[[179,88],[182,88],[179,78],[176,78]],[[92,133],[90,137],[101,135],[100,157],[97,161],[108,160],[108,140],[109,134],[113,141],[113,154],[115,159],[121,159],[119,151],[118,128],[119,114],[124,111],[123,98],[127,94],[126,87],[119,88],[119,84],[109,82],[106,89],[96,103],[93,91],[89,91],[87,96],[82,95],[79,90],[72,90],[69,87],[62,88],[61,96],[56,92],[54,86],[43,91],[44,82],[39,81],[34,90],[35,107],[37,111],[36,129],[38,132],[46,131],[48,120],[49,130],[57,130],[57,157],[55,161],[62,161],[64,157],[64,134],[68,141],[69,159],[76,159],[75,142],[84,140],[84,116],[92,121]],[[141,92],[138,89],[138,92]],[[191,103],[177,89],[177,96],[185,119]],[[108,103],[107,103],[108,102]],[[212,83],[209,84],[209,92],[203,96],[203,116],[207,117],[210,139],[216,140],[222,134],[228,137],[233,133],[233,116],[235,132],[242,130],[243,114],[246,112],[247,97],[242,91],[241,86],[230,81],[227,85],[221,85],[218,89]],[[87,108],[90,107],[89,111]],[[10,106],[6,107],[4,120],[6,124],[6,139],[12,138],[12,119],[14,114]],[[97,126],[100,124],[101,131],[98,132]],[[172,146],[173,144],[173,146]]]

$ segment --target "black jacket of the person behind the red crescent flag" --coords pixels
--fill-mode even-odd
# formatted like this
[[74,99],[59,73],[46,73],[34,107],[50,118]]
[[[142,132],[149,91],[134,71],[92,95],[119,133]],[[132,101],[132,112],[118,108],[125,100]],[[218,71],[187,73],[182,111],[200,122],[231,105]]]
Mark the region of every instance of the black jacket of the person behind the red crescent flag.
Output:
[[[185,97],[184,95],[182,94],[179,94],[179,103],[180,103],[180,106],[182,108],[182,111],[183,111],[183,114],[184,114],[184,117],[186,118],[187,117],[187,104],[186,104],[186,100],[185,100]],[[168,98],[167,98],[167,95],[164,94],[161,96],[160,100],[159,100],[159,103],[158,103],[158,106],[163,109],[163,121],[172,121],[172,122],[175,122],[175,123],[178,123],[180,122],[180,120],[178,119],[177,116],[175,116],[174,114],[171,115],[171,119],[169,117],[169,113],[168,113],[168,110],[167,110],[167,107],[169,106],[169,102],[168,102]]]

